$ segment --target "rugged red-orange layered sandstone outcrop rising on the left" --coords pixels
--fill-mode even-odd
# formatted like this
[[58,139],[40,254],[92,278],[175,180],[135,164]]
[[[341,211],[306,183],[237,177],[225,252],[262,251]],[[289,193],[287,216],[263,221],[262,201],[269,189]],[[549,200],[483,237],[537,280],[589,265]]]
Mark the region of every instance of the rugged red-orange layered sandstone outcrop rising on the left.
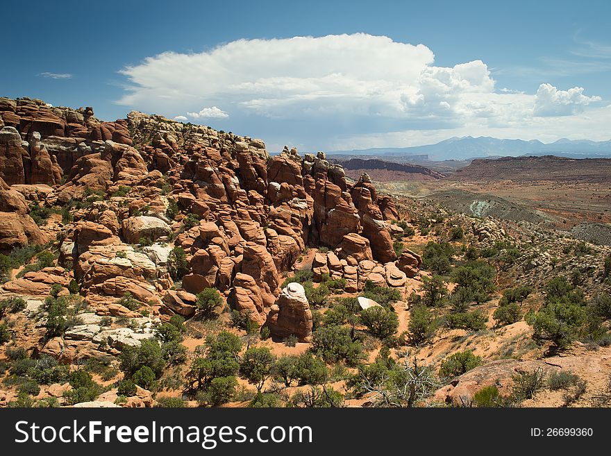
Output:
[[[0,99],[0,117],[0,164],[10,184],[48,185],[47,205],[83,202],[59,235],[59,263],[74,268],[99,310],[106,297],[130,293],[162,313],[191,316],[192,296],[215,287],[264,323],[281,294],[281,273],[305,246],[333,250],[316,267],[345,277],[350,289],[365,280],[403,285],[388,231],[392,200],[378,197],[367,176],[347,182],[324,153],[302,158],[285,147],[270,156],[262,140],[206,126],[140,112],[101,122],[91,108],[30,99]],[[19,210],[25,214],[27,204]],[[12,239],[19,236],[9,227],[3,245],[42,242],[35,224],[19,220],[23,239]],[[144,241],[155,243],[147,253],[127,245]],[[183,294],[170,290],[174,247],[185,253]]]

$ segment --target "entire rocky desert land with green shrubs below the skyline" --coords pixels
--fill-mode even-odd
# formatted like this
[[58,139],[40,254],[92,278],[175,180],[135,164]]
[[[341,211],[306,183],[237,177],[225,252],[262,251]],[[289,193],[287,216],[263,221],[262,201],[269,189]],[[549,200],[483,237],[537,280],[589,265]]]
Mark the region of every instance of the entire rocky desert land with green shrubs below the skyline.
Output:
[[611,159],[0,119],[0,405],[611,405]]

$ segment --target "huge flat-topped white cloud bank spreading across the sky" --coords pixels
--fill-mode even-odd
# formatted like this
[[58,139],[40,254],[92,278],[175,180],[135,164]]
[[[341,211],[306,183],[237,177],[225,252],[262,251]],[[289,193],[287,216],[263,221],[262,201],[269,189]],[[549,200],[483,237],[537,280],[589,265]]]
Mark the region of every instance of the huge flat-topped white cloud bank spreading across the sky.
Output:
[[579,87],[544,84],[536,95],[535,87],[497,89],[482,60],[437,66],[424,44],[365,33],[236,40],[161,53],[121,73],[128,88],[119,103],[131,108],[328,150],[365,137],[384,146],[384,137],[464,131],[536,136],[551,131],[547,116],[577,115],[600,100]]

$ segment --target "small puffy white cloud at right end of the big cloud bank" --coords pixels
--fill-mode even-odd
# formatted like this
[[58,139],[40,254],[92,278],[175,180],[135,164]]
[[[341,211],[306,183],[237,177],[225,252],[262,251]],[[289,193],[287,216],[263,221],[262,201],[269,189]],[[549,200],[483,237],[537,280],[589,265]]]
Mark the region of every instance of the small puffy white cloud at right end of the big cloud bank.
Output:
[[583,111],[583,107],[593,101],[601,101],[600,96],[585,96],[583,87],[558,90],[551,84],[539,85],[535,94],[535,116],[569,116]]

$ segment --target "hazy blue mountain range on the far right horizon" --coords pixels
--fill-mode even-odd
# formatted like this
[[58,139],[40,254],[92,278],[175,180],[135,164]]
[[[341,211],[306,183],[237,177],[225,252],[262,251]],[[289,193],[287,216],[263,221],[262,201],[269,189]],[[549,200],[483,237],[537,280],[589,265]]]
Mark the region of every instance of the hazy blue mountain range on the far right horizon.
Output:
[[328,155],[375,155],[377,157],[405,156],[414,160],[467,160],[469,158],[557,155],[569,158],[611,158],[611,140],[567,140],[562,138],[551,144],[539,140],[499,140],[494,137],[451,137],[449,140],[413,147],[384,147],[355,149],[353,151],[329,151]]

